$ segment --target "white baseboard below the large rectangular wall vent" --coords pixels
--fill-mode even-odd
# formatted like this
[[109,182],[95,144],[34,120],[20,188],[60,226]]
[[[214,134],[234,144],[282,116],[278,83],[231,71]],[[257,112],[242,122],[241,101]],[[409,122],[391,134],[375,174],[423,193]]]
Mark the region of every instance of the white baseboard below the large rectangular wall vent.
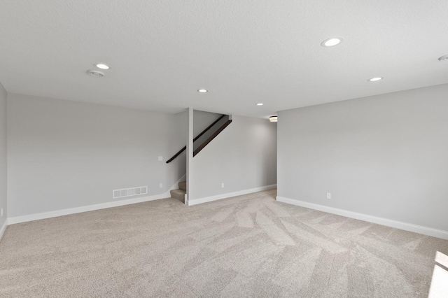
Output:
[[148,197],[139,197],[139,198],[135,198],[135,199],[125,199],[122,201],[111,201],[111,202],[103,203],[103,204],[95,204],[95,205],[62,209],[62,210],[56,210],[56,211],[50,211],[50,212],[44,212],[44,213],[35,213],[35,214],[29,214],[29,215],[23,215],[23,216],[15,216],[14,218],[8,218],[8,225],[13,225],[13,224],[20,223],[20,222],[30,222],[31,220],[43,220],[45,218],[55,218],[57,216],[81,213],[81,212],[86,212],[86,211],[94,211],[94,210],[105,209],[105,208],[137,204],[137,203],[142,203],[144,201],[154,201],[156,199],[166,199],[169,197],[170,197],[170,194],[168,191],[163,194],[156,194],[156,195],[148,196]]

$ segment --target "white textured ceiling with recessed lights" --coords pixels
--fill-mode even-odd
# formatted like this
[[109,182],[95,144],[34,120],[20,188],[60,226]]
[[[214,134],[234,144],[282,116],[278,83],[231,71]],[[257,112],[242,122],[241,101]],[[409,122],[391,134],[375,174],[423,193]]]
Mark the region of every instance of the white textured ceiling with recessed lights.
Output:
[[[447,0],[1,0],[0,82],[40,97],[267,117],[448,83],[437,60],[447,15]],[[321,47],[333,36],[345,41]],[[112,67],[104,78],[86,73],[97,62]]]

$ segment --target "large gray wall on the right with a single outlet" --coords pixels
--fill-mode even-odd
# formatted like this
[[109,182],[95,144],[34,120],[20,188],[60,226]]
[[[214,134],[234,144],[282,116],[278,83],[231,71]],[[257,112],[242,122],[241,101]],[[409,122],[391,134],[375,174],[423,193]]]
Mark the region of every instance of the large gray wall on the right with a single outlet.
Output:
[[438,85],[279,112],[278,195],[448,230],[447,94]]

